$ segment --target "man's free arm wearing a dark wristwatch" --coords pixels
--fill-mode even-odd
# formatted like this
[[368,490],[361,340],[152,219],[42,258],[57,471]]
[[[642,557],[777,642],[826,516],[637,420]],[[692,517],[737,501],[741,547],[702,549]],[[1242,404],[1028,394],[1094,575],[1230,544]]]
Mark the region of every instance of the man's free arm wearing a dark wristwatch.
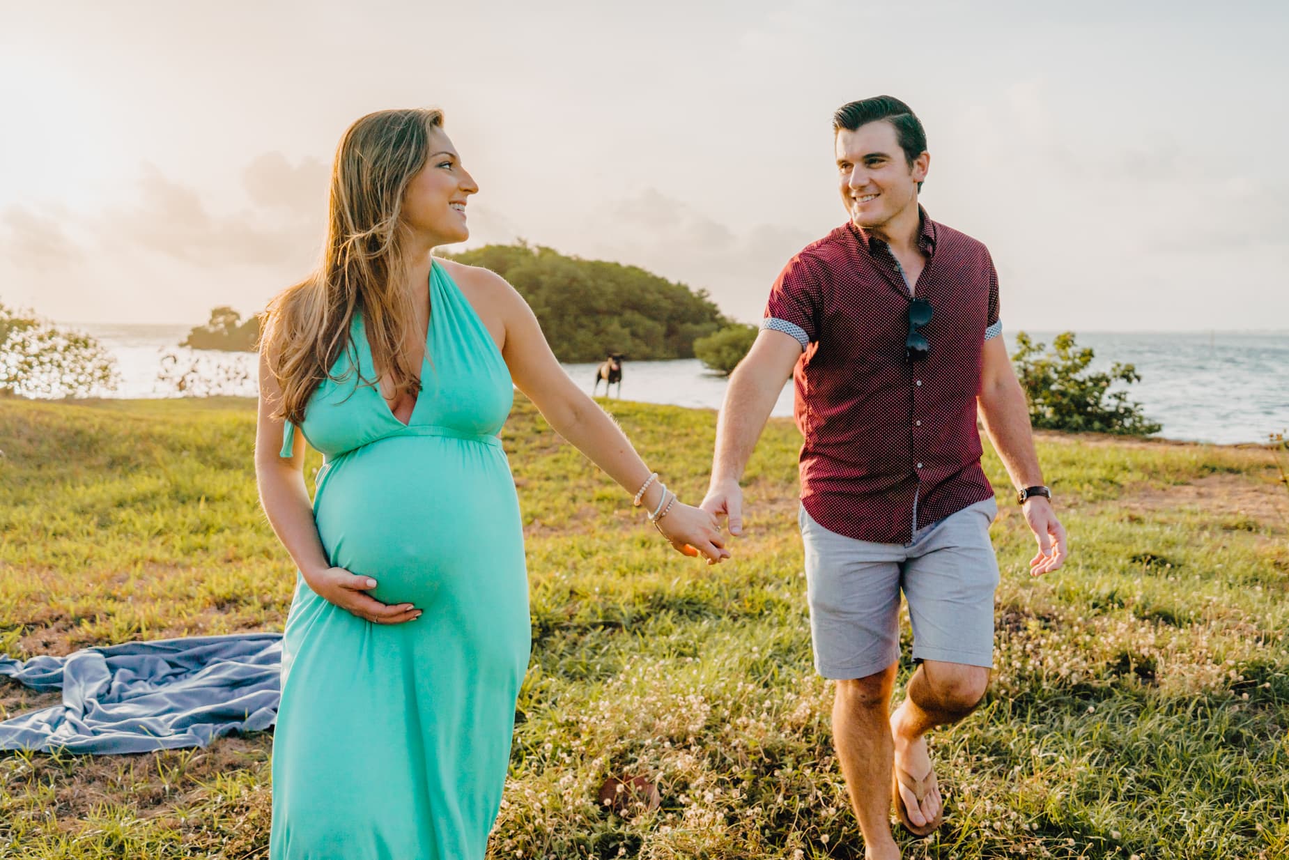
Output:
[[[989,441],[994,444],[1016,489],[1042,485],[1043,471],[1034,450],[1029,405],[1000,337],[985,342],[976,406]],[[1065,526],[1057,520],[1052,503],[1043,496],[1027,499],[1025,520],[1039,543],[1038,554],[1030,560],[1030,575],[1042,576],[1061,567],[1069,554],[1069,544]]]

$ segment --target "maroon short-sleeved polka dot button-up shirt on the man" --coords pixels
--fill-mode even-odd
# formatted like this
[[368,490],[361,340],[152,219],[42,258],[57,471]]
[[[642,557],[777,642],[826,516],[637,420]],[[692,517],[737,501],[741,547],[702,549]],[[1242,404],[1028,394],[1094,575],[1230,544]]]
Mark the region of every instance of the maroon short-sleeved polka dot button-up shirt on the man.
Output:
[[[849,222],[775,281],[763,329],[802,344],[793,378],[802,504],[849,538],[907,543],[994,495],[980,465],[981,351],[1002,331],[998,273],[974,239],[922,211],[926,267],[910,295],[889,246]],[[924,358],[905,352],[909,303],[926,299]]]

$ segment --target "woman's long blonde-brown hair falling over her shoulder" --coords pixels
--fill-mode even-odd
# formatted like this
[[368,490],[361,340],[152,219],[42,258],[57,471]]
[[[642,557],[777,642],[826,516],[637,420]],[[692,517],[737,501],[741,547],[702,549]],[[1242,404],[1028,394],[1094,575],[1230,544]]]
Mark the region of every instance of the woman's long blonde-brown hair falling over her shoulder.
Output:
[[402,289],[401,213],[407,183],[429,156],[429,135],[442,125],[437,110],[378,111],[340,138],[322,260],[309,277],[273,297],[262,318],[260,351],[282,389],[277,418],[304,420],[309,397],[331,378],[340,351],[352,346],[349,326],[358,308],[373,360],[391,375],[394,396],[419,391],[419,367],[400,348],[416,312]]

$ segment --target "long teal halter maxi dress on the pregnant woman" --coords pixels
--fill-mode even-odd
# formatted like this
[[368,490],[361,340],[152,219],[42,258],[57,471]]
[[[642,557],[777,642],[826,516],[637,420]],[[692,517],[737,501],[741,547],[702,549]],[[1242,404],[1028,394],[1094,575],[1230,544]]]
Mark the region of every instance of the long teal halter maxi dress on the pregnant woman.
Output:
[[[519,505],[496,436],[513,387],[437,262],[429,304],[407,424],[373,384],[361,313],[333,367],[340,382],[322,382],[300,424],[324,455],[313,516],[327,558],[375,579],[376,600],[424,614],[371,624],[296,579],[273,860],[482,860],[501,802],[530,651]],[[294,435],[287,424],[284,456]]]

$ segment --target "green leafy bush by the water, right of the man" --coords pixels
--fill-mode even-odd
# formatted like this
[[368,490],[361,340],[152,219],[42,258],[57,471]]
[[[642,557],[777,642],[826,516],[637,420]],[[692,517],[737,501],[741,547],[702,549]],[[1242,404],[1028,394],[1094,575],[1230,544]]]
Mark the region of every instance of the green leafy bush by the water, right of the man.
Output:
[[1139,404],[1128,400],[1128,392],[1110,391],[1115,383],[1141,382],[1132,365],[1115,362],[1110,373],[1089,371],[1093,352],[1078,348],[1072,331],[1058,334],[1051,352],[1023,331],[1016,335],[1016,347],[1012,361],[1035,428],[1121,436],[1148,436],[1161,429],[1142,414]]

